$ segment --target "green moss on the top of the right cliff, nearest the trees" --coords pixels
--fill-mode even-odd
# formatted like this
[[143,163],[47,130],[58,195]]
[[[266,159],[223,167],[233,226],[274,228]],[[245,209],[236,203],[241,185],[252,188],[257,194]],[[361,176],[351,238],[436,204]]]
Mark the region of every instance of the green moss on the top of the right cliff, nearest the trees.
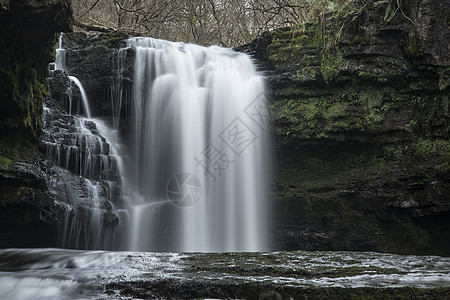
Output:
[[[323,17],[316,22],[274,30],[271,33],[272,42],[267,48],[270,59],[280,68],[298,66],[299,69],[306,69],[296,78],[299,81],[322,77],[328,84],[345,82],[349,76],[342,74],[343,64],[351,56],[352,47],[372,44],[374,41],[373,34],[365,34],[361,29],[363,23],[373,17],[377,18],[379,24],[390,22],[396,15],[395,5],[391,1],[347,2],[338,10],[322,14]],[[373,20],[371,22],[374,23]],[[410,43],[411,53],[418,51],[417,40],[413,38]],[[313,57],[312,61],[310,57]],[[370,64],[370,59],[375,58],[368,58],[366,63]],[[399,62],[391,58],[385,60],[392,60],[389,61],[392,70],[389,67],[382,68],[382,74],[361,70],[360,77],[387,83],[391,73],[397,72]]]

